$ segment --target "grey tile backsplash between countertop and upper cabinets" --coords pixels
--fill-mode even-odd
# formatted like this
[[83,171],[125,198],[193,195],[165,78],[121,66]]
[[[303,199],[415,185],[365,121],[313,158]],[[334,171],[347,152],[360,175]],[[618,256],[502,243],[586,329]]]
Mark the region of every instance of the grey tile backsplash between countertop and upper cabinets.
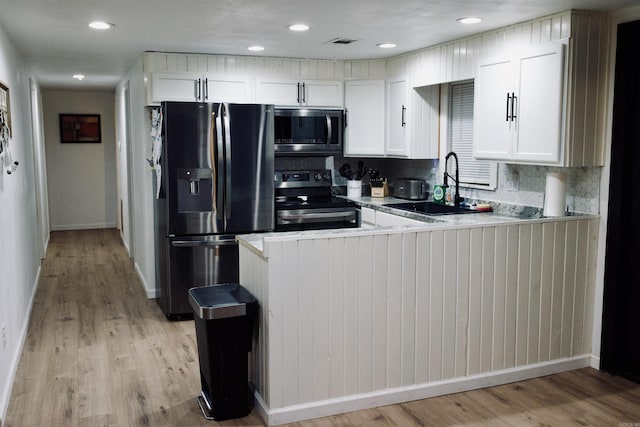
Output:
[[[344,163],[355,168],[363,161],[367,168],[376,168],[382,176],[393,184],[397,178],[421,178],[431,185],[442,181],[438,160],[406,159],[357,159],[335,157],[277,157],[276,169],[324,169],[333,164],[334,185],[346,186],[346,180],[337,170]],[[566,203],[570,212],[599,213],[600,167],[558,168],[549,166],[529,166],[498,164],[498,186],[495,190],[461,188],[460,194],[473,200],[501,202],[505,204],[542,208],[547,172],[563,172],[567,176]],[[513,187],[507,182],[515,183]],[[365,177],[364,182],[367,182]],[[367,189],[368,186],[363,186]]]

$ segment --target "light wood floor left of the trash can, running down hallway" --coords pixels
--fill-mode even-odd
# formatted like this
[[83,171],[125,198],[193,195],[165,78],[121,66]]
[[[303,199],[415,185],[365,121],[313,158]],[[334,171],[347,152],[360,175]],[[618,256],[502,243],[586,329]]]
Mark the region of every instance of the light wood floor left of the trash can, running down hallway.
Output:
[[199,392],[193,322],[145,297],[118,231],[53,232],[5,425],[196,426]]

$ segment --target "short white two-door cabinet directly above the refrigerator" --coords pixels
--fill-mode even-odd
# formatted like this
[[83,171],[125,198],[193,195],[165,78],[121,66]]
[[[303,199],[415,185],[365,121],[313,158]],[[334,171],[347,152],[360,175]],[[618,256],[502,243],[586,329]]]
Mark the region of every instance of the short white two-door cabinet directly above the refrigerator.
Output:
[[252,78],[199,73],[152,73],[147,105],[162,101],[236,102],[255,100]]

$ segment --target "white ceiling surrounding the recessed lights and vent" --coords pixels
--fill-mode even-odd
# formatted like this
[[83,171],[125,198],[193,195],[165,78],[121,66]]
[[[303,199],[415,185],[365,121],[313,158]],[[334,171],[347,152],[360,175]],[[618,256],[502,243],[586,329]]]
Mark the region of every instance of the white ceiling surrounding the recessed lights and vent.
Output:
[[[568,9],[638,0],[0,0],[0,27],[43,88],[113,89],[144,51],[383,58]],[[479,16],[462,25],[456,18]],[[93,20],[115,24],[108,31]],[[292,23],[311,29],[293,33]],[[347,45],[328,43],[354,39]],[[393,42],[383,50],[377,43]],[[250,45],[265,50],[252,54]],[[71,78],[82,73],[82,82]]]

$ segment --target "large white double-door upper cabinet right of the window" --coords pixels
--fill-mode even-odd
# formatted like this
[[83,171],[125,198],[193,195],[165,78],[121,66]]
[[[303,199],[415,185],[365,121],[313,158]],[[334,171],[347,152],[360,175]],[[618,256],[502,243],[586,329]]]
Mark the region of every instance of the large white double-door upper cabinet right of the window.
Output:
[[563,76],[562,44],[478,61],[474,157],[560,165]]

